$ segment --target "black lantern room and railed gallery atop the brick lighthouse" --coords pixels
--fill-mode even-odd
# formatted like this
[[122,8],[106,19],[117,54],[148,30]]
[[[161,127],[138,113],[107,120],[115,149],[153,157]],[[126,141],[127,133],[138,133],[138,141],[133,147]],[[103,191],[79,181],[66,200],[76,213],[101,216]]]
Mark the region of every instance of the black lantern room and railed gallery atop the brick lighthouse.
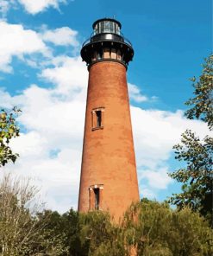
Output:
[[116,61],[128,67],[134,49],[121,32],[122,24],[112,18],[99,19],[92,25],[93,33],[81,49],[81,57],[88,68],[99,61]]

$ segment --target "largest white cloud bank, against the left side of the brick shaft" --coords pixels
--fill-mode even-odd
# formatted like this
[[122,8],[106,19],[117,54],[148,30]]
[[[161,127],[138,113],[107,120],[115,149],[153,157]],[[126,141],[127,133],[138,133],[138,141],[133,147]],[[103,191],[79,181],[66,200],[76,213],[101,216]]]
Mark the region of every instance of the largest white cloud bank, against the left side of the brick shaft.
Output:
[[[64,212],[71,206],[77,208],[85,99],[73,98],[72,94],[73,90],[78,95],[86,91],[88,72],[86,67],[83,71],[85,65],[80,58],[61,57],[53,62],[65,68],[72,79],[60,81],[56,76],[56,80],[50,79],[56,85],[52,89],[31,85],[14,97],[0,90],[1,106],[21,106],[18,120],[28,129],[13,141],[12,147],[20,157],[5,170],[34,176],[46,195],[47,207]],[[61,69],[54,72],[59,77],[61,72],[64,74]]]

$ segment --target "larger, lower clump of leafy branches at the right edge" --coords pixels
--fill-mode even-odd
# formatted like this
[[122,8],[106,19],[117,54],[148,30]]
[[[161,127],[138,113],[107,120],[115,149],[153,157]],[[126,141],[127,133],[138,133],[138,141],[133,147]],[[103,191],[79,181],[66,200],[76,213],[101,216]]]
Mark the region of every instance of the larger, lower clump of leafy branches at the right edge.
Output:
[[173,147],[176,159],[185,161],[186,167],[174,171],[173,179],[183,182],[180,194],[174,194],[169,202],[179,208],[186,205],[200,211],[208,219],[211,217],[212,175],[213,175],[213,138],[206,136],[204,141],[192,131],[182,134],[181,144]]

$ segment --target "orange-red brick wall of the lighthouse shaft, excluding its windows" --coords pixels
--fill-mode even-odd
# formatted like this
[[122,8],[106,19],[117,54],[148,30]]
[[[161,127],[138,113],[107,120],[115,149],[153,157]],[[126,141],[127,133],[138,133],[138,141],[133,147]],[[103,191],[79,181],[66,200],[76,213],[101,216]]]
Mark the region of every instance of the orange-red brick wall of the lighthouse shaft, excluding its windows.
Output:
[[[92,131],[92,110],[100,107],[103,129]],[[90,68],[78,211],[93,208],[89,188],[100,184],[100,209],[110,211],[115,221],[139,201],[126,68],[116,61]]]

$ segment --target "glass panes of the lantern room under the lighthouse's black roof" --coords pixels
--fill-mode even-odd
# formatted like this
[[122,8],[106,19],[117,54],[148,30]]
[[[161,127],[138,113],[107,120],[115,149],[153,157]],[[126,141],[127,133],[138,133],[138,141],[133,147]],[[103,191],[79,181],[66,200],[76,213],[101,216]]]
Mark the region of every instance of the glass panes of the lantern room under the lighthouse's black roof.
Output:
[[120,35],[120,27],[116,22],[112,21],[102,21],[98,22],[94,29],[94,35],[102,34],[102,33],[112,33]]

